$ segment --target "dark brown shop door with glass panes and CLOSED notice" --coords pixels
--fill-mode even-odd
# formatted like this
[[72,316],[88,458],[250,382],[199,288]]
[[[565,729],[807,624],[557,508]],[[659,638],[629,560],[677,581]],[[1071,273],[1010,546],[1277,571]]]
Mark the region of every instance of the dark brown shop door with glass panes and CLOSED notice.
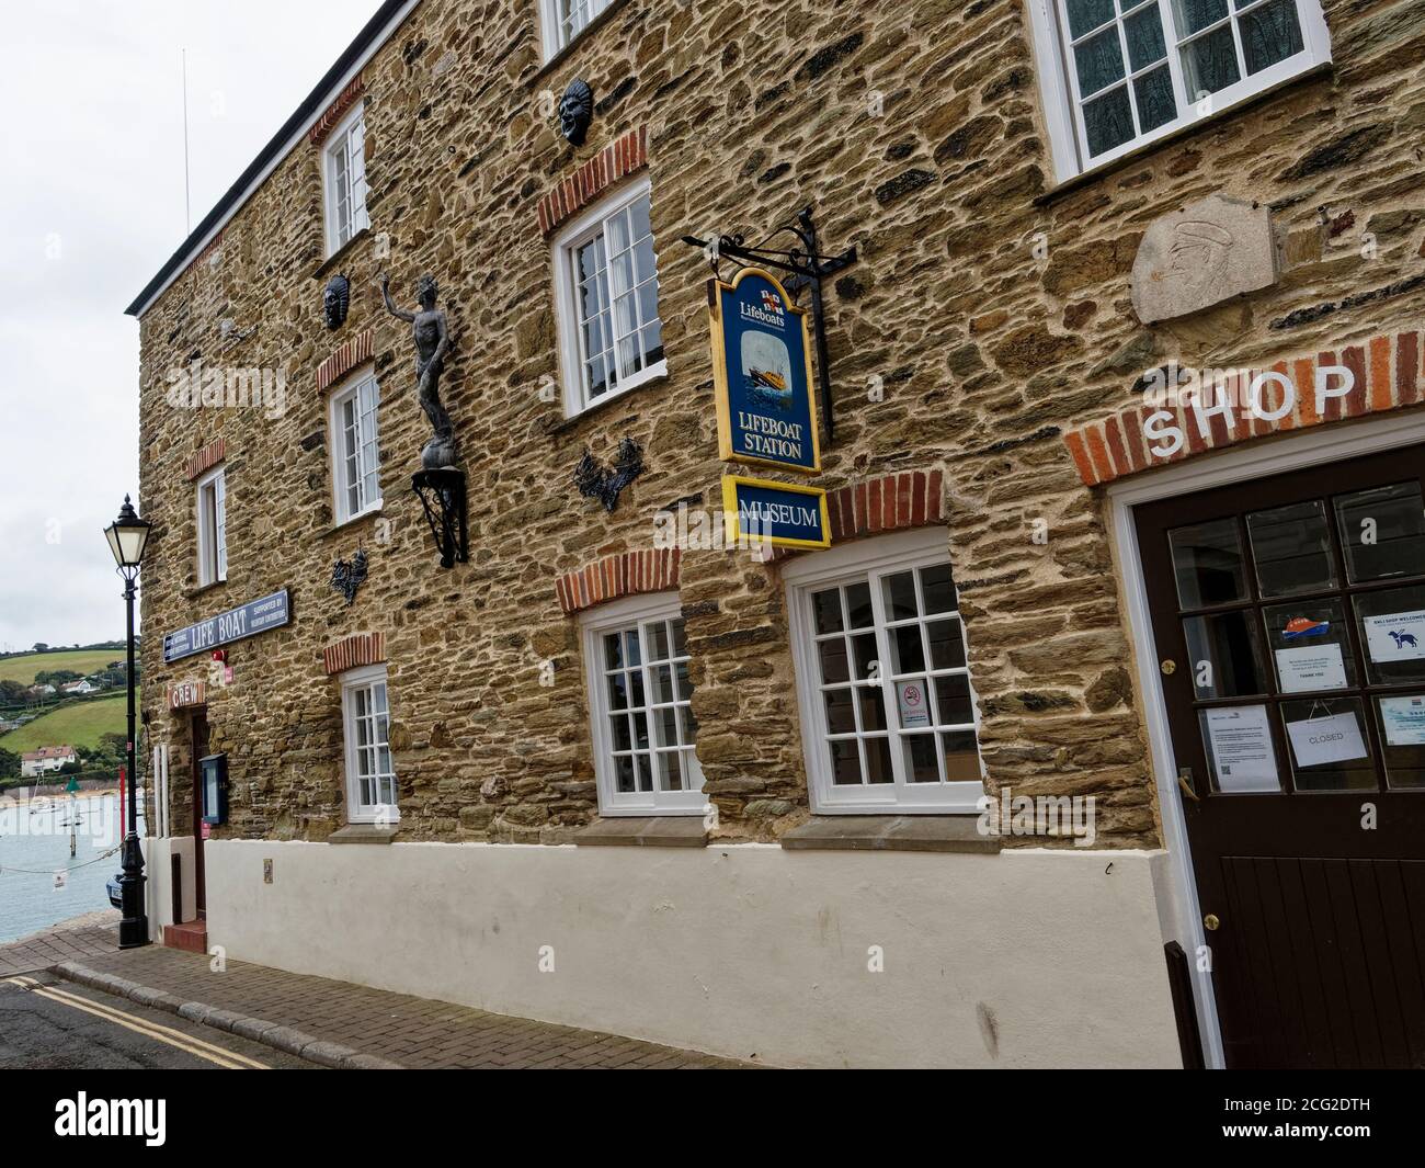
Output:
[[1425,1065],[1422,475],[1136,512],[1230,1067]]

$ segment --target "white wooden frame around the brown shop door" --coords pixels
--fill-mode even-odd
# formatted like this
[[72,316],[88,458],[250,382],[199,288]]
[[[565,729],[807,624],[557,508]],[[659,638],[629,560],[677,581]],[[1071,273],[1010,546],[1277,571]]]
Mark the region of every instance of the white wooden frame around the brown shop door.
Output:
[[1197,880],[1193,876],[1187,824],[1183,820],[1183,804],[1177,790],[1177,760],[1173,756],[1173,739],[1168,733],[1167,705],[1163,700],[1159,676],[1159,655],[1153,642],[1153,620],[1149,612],[1147,586],[1143,582],[1143,565],[1139,560],[1139,533],[1133,522],[1133,509],[1157,499],[1381,454],[1416,442],[1425,442],[1425,411],[1355,424],[1328,422],[1218,455],[1200,455],[1191,462],[1133,476],[1107,489],[1110,539],[1123,573],[1123,608],[1129,616],[1137,660],[1139,695],[1143,700],[1143,720],[1149,730],[1149,750],[1157,780],[1159,810],[1163,816],[1163,841],[1170,856],[1170,901],[1161,906],[1161,918],[1168,936],[1187,953],[1197,1001],[1198,1031],[1203,1035],[1203,1055],[1213,1068],[1224,1065],[1223,1035],[1211,980],[1197,968],[1196,956],[1207,940],[1203,933],[1203,911],[1197,903]]

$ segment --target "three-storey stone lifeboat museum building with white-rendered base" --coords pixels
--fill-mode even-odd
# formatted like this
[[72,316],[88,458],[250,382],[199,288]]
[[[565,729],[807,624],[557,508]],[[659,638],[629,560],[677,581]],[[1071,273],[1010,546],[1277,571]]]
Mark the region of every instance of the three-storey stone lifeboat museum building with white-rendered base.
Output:
[[[1418,0],[385,3],[130,308],[165,938],[774,1064],[1418,1061],[1422,63]],[[805,207],[809,475],[720,458],[697,245]]]

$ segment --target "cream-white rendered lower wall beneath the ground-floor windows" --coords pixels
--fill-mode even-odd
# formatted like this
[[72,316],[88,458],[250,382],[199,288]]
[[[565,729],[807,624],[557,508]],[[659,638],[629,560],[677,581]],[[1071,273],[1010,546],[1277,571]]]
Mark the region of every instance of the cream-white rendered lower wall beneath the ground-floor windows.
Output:
[[204,857],[229,960],[774,1065],[1181,1064],[1157,851],[209,840]]

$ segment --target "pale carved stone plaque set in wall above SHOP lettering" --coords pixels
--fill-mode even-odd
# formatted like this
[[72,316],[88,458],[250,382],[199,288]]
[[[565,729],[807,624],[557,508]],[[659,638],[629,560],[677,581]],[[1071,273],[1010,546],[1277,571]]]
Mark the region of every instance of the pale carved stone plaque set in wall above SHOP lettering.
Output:
[[1133,261],[1133,308],[1153,324],[1275,282],[1271,212],[1214,194],[1149,227]]

